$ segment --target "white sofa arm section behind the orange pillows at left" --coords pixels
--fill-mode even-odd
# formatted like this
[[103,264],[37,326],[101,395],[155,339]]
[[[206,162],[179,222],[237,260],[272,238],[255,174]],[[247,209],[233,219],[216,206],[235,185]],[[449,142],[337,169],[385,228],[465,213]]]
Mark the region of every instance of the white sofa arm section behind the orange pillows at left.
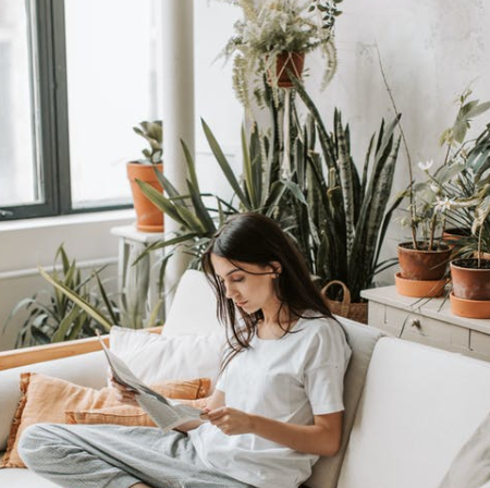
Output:
[[100,389],[107,382],[106,370],[107,359],[100,351],[0,371],[0,451],[7,448],[10,425],[21,400],[19,389],[21,373],[40,373],[84,387]]

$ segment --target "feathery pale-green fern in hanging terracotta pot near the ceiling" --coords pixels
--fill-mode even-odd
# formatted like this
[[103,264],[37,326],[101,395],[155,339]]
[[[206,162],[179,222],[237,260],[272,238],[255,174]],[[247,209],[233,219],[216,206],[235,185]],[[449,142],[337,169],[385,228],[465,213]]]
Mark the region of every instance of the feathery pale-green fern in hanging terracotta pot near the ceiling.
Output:
[[305,54],[317,48],[326,57],[322,85],[328,84],[336,68],[333,26],[341,1],[265,0],[258,7],[249,0],[235,2],[243,19],[222,56],[234,57],[233,88],[246,108],[249,91],[260,91],[265,74],[275,99],[279,87],[291,88],[290,73],[301,78]]

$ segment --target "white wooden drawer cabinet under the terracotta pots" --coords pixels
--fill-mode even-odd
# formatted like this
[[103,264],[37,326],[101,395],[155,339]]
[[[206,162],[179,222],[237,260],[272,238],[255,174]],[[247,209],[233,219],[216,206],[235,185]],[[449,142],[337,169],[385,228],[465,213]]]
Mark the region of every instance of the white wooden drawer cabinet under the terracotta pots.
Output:
[[458,317],[449,298],[411,298],[395,286],[364,290],[368,325],[408,341],[490,361],[490,320]]

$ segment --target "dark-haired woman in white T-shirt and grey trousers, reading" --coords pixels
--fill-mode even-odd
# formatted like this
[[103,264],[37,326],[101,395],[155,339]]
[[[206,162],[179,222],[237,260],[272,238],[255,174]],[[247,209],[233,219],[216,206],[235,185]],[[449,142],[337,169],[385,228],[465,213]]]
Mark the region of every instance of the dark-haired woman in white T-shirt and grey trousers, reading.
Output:
[[242,213],[211,240],[203,268],[229,342],[203,422],[168,434],[33,426],[20,447],[28,467],[65,488],[296,488],[336,453],[351,350],[293,242],[273,220]]

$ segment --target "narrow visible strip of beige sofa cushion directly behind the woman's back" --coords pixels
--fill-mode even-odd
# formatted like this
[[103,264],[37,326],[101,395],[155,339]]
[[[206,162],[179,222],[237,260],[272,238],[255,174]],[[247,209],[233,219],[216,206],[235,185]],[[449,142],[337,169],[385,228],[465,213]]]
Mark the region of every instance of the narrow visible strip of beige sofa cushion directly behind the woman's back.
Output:
[[[320,457],[313,468],[310,478],[306,481],[309,488],[334,488],[339,479],[348,437],[354,424],[355,414],[366,379],[372,351],[383,333],[375,328],[338,317],[347,334],[352,349],[351,362],[344,379],[344,423],[342,444],[332,457]],[[359,485],[362,486],[362,485]]]

